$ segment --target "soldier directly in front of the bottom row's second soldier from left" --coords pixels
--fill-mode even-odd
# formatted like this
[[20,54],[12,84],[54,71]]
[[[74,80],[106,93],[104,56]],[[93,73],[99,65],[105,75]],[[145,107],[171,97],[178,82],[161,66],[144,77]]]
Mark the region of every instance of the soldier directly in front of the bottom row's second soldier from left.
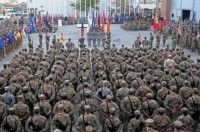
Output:
[[39,102],[36,104],[36,106],[40,107],[41,115],[45,116],[47,120],[49,120],[52,114],[52,107],[49,104],[49,102],[45,100],[44,94],[40,94],[38,98],[39,98]]

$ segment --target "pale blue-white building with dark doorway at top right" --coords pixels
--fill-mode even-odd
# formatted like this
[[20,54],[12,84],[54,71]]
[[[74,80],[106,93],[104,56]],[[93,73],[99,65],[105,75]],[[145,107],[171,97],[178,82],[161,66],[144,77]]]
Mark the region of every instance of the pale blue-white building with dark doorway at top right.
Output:
[[200,0],[163,0],[162,16],[171,20],[200,20]]

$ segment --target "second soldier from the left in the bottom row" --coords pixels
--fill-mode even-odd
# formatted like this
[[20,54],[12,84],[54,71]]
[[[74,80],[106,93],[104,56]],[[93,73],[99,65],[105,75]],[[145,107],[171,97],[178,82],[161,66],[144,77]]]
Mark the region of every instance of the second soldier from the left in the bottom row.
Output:
[[26,121],[25,130],[27,132],[49,132],[49,122],[40,114],[38,106],[34,107],[33,113],[34,115]]

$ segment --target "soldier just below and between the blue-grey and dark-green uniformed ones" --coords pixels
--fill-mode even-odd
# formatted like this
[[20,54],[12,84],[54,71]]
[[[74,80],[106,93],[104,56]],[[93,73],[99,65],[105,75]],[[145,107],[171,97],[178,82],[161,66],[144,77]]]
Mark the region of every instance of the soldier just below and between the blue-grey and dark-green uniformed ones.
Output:
[[14,105],[15,115],[19,117],[22,126],[25,126],[25,122],[30,115],[29,107],[23,103],[23,95],[17,96],[18,103]]

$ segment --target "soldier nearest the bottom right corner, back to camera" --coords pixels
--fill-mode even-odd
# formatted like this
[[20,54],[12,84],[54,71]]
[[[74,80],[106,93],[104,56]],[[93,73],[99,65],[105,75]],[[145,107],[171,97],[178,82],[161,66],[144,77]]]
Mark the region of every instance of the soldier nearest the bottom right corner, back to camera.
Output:
[[181,121],[183,125],[185,126],[185,131],[189,131],[189,129],[192,128],[194,125],[194,120],[189,115],[187,108],[183,107],[181,109],[181,112],[182,112],[182,115],[178,117],[178,120]]

